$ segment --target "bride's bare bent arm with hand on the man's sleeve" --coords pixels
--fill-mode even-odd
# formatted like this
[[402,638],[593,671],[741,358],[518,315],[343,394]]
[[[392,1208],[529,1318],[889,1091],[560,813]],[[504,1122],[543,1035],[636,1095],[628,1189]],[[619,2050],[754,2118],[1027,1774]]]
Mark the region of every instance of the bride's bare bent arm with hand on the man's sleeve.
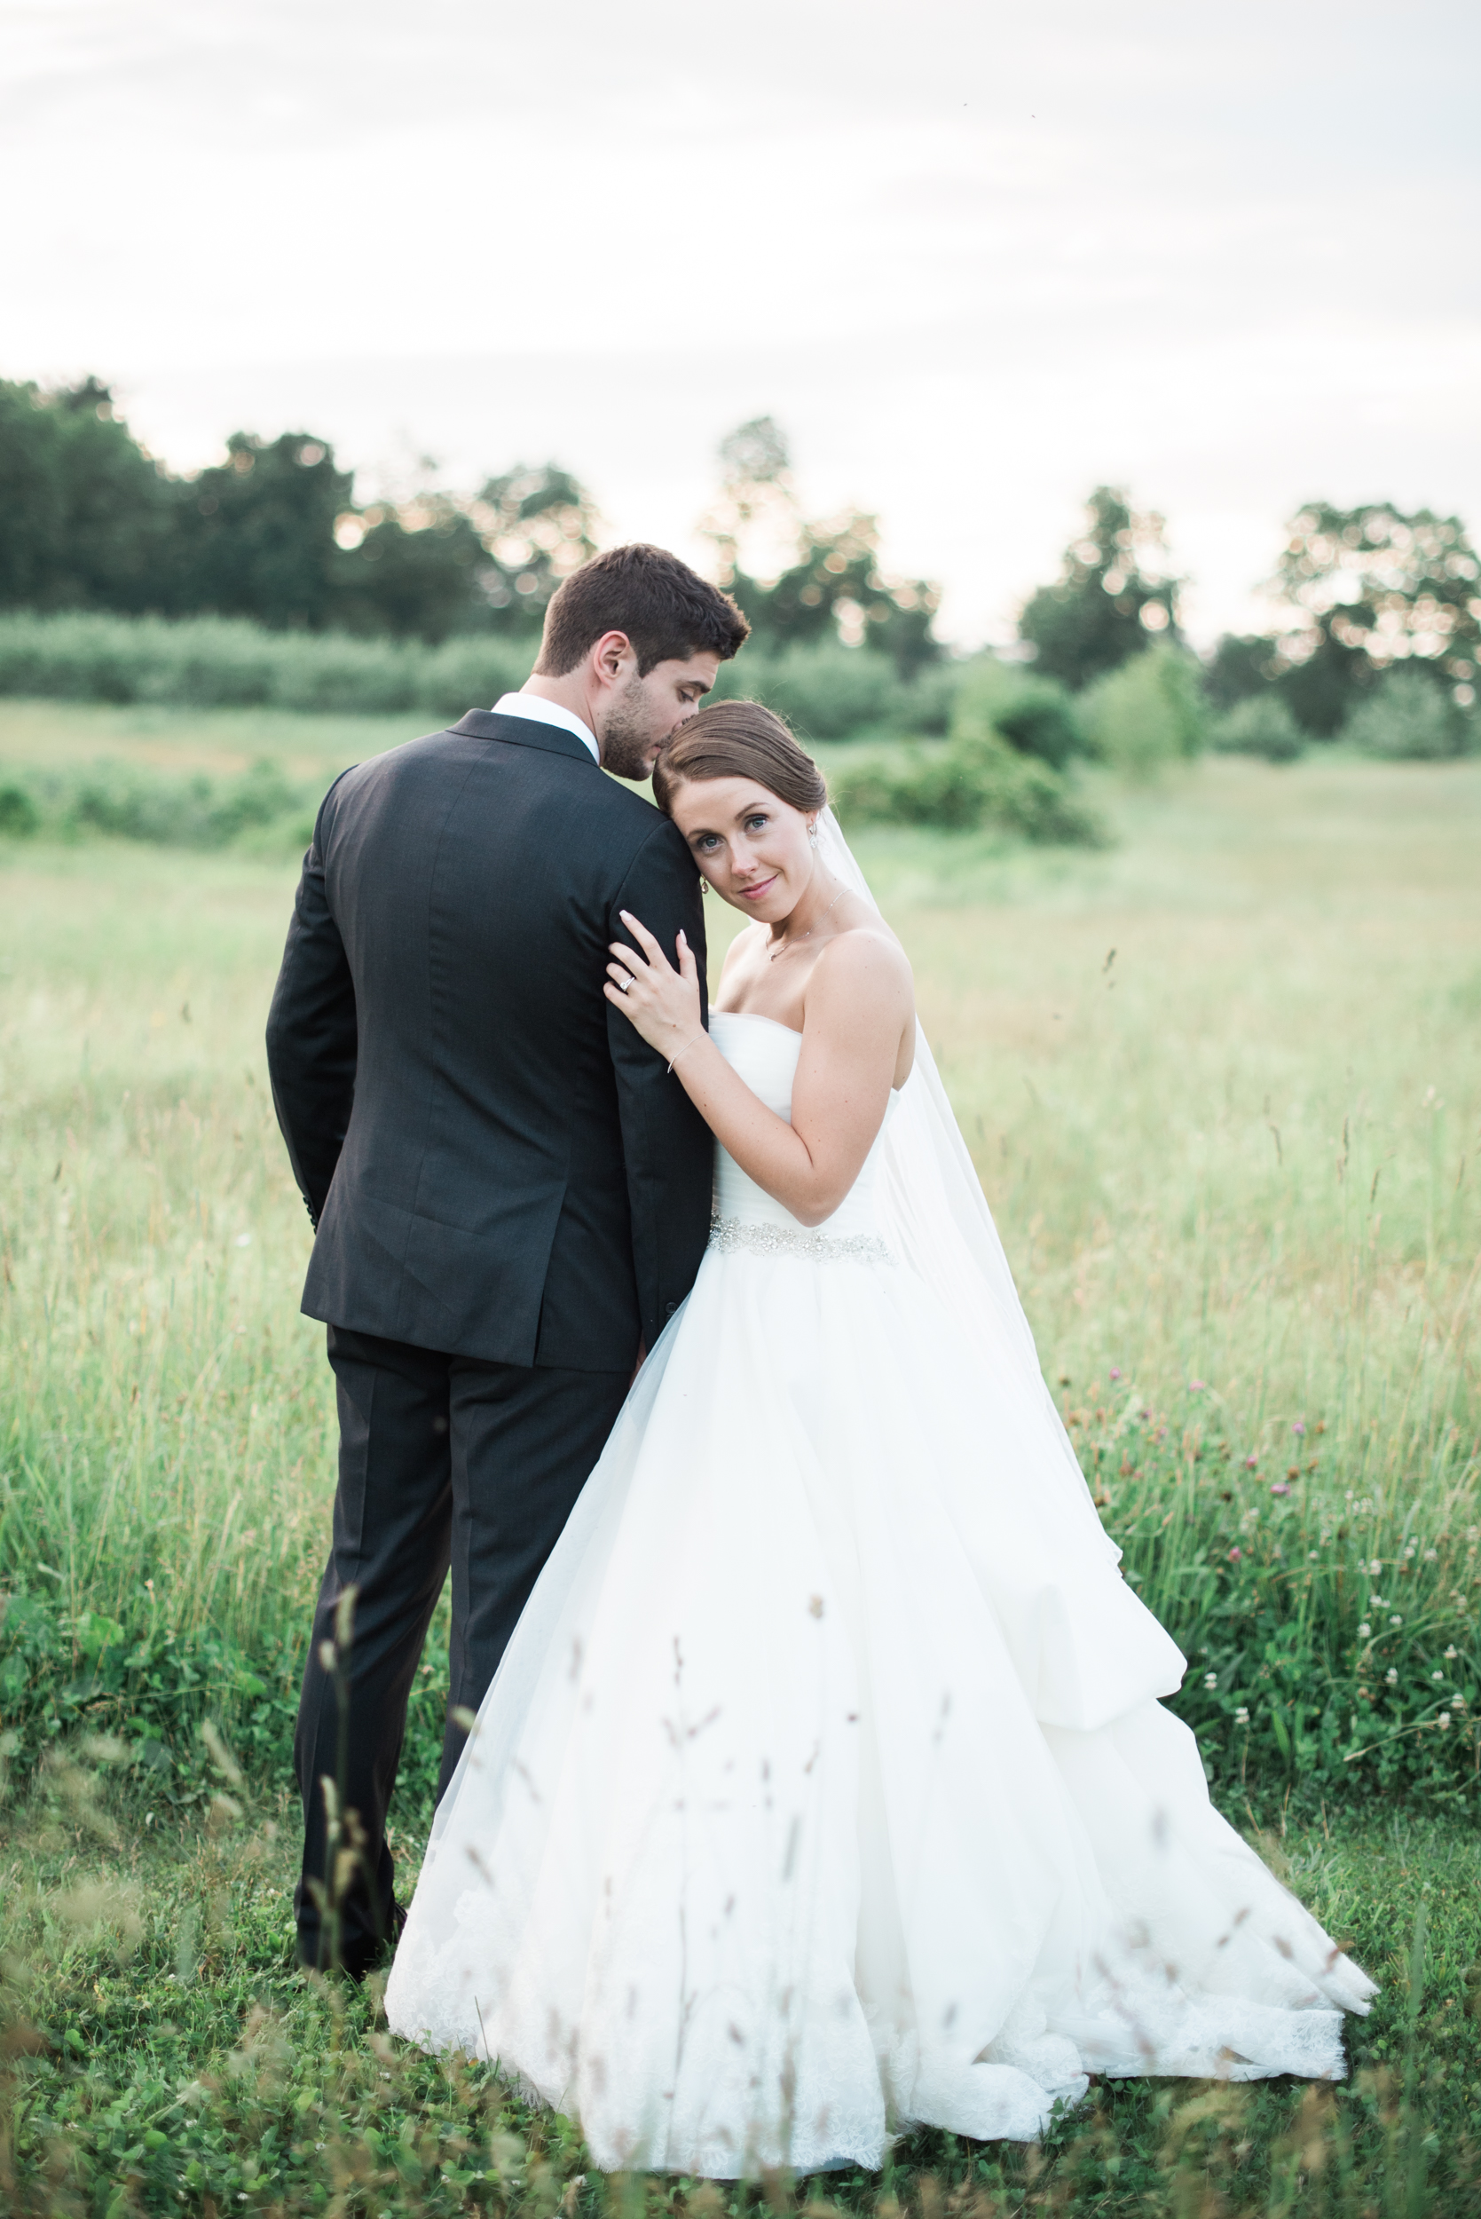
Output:
[[[743,1172],[803,1225],[842,1203],[885,1123],[900,1038],[911,1016],[911,974],[882,932],[842,932],[807,981],[803,1052],[791,1123],[758,1101],[698,1021],[698,972],[687,941],[678,970],[636,921],[623,923],[647,963],[614,945],[607,1001],[667,1056],[674,1076]],[[627,972],[630,985],[616,985]]]

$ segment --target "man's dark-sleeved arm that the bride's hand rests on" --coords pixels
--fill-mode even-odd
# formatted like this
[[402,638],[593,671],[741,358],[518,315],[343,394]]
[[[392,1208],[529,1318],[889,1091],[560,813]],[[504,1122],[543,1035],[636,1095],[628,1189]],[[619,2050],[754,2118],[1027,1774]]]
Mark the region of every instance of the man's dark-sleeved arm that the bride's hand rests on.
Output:
[[[670,961],[676,961],[674,950],[683,930],[698,963],[701,1016],[707,1021],[698,872],[667,817],[654,825],[607,912],[607,939],[634,945],[621,910],[630,910],[647,925]],[[652,1349],[694,1285],[705,1254],[714,1143],[665,1058],[639,1036],[621,1010],[612,1007],[607,1007],[607,1050],[623,1121],[643,1345]]]

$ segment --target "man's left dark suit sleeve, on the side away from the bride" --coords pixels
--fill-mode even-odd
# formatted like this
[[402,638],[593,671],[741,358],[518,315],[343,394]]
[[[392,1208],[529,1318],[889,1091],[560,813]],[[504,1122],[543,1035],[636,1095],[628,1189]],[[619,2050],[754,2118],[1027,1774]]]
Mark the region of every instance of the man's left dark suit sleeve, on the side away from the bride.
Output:
[[324,890],[326,808],[328,794],[304,857],[284,965],[268,1010],[273,1107],[315,1227],[350,1125],[359,1047],[355,981]]

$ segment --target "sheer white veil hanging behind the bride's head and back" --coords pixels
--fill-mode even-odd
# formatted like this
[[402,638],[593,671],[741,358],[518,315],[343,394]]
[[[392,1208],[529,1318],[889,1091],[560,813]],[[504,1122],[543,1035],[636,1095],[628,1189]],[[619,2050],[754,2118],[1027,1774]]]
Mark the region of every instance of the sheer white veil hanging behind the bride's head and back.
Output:
[[[818,817],[818,857],[849,892],[882,914],[831,810]],[[1024,1433],[1042,1438],[1040,1427],[1049,1420],[1049,1438],[1060,1456],[1031,1460],[1035,1485],[1051,1487],[1071,1516],[1093,1524],[1100,1549],[1120,1558],[1044,1385],[1009,1258],[920,1023],[916,1065],[885,1127],[880,1172],[880,1216],[891,1249],[967,1329],[1004,1400],[1015,1402],[1029,1420]]]

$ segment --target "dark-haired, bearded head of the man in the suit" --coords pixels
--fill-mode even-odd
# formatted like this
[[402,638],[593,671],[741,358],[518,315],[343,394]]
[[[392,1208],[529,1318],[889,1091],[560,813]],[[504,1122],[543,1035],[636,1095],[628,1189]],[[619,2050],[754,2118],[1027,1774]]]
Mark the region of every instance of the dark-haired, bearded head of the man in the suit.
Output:
[[718,586],[663,548],[596,555],[545,610],[534,677],[579,695],[619,779],[645,779],[667,739],[714,686],[749,624]]

